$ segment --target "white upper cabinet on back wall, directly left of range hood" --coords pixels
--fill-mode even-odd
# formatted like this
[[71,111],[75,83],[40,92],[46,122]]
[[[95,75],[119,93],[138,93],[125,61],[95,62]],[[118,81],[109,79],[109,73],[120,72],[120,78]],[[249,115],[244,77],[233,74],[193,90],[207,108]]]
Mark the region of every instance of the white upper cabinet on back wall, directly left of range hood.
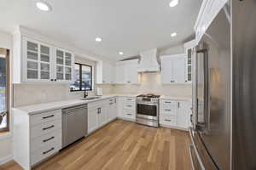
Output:
[[118,84],[137,84],[139,75],[137,74],[138,59],[119,61],[115,66],[115,78]]

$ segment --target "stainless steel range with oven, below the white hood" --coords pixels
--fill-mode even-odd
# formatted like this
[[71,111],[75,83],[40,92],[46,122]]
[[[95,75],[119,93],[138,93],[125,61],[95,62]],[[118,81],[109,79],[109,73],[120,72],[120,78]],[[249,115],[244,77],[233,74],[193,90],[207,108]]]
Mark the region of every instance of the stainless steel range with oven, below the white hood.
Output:
[[160,95],[141,94],[136,99],[136,122],[152,127],[159,127]]

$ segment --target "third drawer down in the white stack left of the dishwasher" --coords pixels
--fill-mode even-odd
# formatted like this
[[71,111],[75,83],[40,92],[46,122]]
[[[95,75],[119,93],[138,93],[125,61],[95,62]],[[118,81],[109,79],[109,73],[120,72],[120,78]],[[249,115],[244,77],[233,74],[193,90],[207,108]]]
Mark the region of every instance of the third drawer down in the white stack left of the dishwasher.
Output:
[[47,144],[51,143],[61,144],[61,129],[58,129],[54,132],[44,134],[36,139],[31,141],[31,151],[38,150],[44,147]]

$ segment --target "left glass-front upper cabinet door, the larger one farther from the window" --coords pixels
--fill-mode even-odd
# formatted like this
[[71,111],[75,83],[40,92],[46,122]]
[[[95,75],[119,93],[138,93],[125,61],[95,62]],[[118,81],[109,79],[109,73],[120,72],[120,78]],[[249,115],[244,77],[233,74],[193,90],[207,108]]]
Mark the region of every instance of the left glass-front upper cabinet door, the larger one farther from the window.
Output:
[[50,46],[35,40],[24,39],[24,82],[50,81]]

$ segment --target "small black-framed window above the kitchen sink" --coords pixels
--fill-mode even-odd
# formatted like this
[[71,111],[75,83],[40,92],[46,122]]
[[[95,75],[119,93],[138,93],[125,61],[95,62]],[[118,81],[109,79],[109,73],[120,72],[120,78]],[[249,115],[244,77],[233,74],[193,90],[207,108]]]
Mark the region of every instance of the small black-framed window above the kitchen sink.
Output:
[[70,86],[71,91],[92,90],[92,66],[75,63],[74,82]]

